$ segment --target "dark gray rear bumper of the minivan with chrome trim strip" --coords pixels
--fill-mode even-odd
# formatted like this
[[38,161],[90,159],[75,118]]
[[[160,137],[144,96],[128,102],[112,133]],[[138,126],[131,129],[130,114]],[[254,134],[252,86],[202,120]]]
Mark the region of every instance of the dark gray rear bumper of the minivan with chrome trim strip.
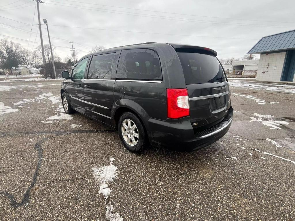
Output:
[[227,112],[224,120],[204,130],[194,133],[189,117],[178,120],[167,119],[160,121],[153,118],[144,118],[150,142],[169,146],[178,151],[192,151],[208,146],[222,138],[232,123],[233,109]]

